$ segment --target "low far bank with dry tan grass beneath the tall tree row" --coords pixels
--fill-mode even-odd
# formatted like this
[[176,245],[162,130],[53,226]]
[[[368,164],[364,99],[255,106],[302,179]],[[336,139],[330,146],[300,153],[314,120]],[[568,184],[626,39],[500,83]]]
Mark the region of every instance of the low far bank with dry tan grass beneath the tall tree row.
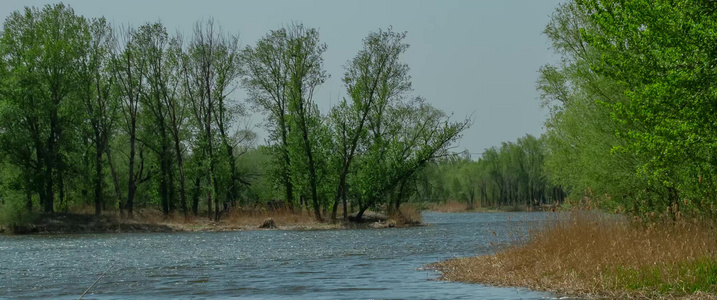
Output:
[[[408,215],[408,214],[406,214]],[[420,217],[420,215],[419,215]],[[32,222],[22,225],[0,226],[4,234],[82,234],[130,232],[199,232],[240,230],[328,230],[356,228],[389,228],[422,225],[415,215],[386,216],[367,212],[361,223],[338,221],[319,222],[308,212],[287,211],[233,211],[218,222],[201,217],[178,215],[163,216],[158,211],[139,211],[134,218],[121,218],[118,214],[95,216],[81,213],[41,214]]]

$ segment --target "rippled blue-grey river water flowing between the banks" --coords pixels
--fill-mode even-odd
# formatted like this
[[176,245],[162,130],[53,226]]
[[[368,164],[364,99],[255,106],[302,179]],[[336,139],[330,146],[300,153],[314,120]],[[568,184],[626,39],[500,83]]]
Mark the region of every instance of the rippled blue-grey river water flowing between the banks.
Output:
[[[0,298],[545,299],[435,281],[421,268],[490,253],[543,213],[424,213],[376,230],[0,236]],[[495,235],[493,234],[495,231]]]

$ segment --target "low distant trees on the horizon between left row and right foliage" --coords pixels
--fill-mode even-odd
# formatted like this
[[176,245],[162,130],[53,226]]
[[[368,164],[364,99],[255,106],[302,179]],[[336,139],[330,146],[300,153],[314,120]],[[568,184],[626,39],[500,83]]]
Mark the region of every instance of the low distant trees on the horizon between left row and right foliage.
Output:
[[543,168],[547,154],[542,139],[526,135],[487,149],[477,160],[467,152],[440,158],[416,177],[414,197],[457,200],[469,208],[561,203],[565,191],[549,181]]

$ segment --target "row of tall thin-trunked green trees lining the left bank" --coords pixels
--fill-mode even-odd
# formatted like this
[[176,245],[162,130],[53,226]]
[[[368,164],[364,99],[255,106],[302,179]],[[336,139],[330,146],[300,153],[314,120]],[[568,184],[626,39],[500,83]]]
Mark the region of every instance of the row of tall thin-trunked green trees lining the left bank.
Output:
[[[401,201],[400,187],[470,125],[410,96],[405,33],[369,33],[322,114],[316,29],[255,45],[209,21],[114,27],[63,4],[13,12],[0,38],[0,211],[157,208],[219,220],[283,201],[317,219]],[[248,99],[234,98],[243,89]],[[265,116],[268,145],[242,129]]]

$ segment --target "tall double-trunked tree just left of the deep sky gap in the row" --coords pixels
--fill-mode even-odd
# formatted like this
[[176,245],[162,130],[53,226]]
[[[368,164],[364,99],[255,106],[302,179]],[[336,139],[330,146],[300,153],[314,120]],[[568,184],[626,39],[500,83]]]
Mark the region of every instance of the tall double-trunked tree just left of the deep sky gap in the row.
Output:
[[[254,104],[268,113],[271,139],[275,143],[278,175],[284,183],[286,200],[293,204],[295,182],[291,157],[306,166],[307,190],[317,219],[321,219],[317,164],[315,161],[318,111],[313,94],[328,75],[323,70],[323,52],[316,29],[302,24],[271,31],[257,46],[247,47],[243,58],[247,69],[244,86]],[[291,136],[297,142],[290,144]],[[292,154],[291,152],[294,152]],[[301,155],[296,155],[301,153]]]

